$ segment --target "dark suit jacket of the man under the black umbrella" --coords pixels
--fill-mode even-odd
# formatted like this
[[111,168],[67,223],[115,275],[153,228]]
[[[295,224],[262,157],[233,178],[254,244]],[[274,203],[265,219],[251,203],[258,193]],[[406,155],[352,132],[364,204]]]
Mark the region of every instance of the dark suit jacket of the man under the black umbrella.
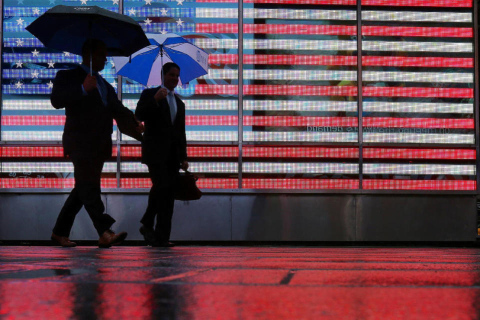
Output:
[[53,80],[50,101],[56,109],[65,108],[65,126],[63,128],[63,153],[84,156],[99,156],[107,159],[111,156],[111,133],[113,118],[130,118],[136,122],[133,112],[125,107],[113,87],[104,81],[107,89],[107,104],[104,105],[98,90],[83,94],[81,84],[86,76],[80,66],[59,70]]

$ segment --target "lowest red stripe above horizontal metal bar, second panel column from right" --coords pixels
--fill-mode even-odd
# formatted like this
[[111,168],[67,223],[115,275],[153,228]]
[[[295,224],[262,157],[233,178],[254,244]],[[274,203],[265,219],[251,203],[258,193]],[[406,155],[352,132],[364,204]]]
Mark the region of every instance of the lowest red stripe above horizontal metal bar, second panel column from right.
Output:
[[243,116],[243,125],[275,126],[358,126],[358,118],[349,116]]

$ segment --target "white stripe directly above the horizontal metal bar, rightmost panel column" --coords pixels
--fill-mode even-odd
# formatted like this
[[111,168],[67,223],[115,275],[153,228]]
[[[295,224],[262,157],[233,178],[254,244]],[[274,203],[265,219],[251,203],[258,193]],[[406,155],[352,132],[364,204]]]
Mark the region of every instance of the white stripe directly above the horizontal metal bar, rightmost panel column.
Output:
[[475,143],[473,134],[457,133],[377,133],[363,132],[364,142],[396,143]]

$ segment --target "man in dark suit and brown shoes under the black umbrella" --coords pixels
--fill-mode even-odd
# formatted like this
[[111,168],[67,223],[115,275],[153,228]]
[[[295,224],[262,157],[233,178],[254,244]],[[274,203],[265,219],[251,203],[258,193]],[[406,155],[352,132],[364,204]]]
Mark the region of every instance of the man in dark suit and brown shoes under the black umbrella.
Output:
[[[104,213],[100,176],[104,161],[111,156],[113,118],[130,117],[139,133],[143,126],[134,119],[133,112],[121,104],[113,87],[98,74],[105,65],[106,53],[102,41],[85,41],[81,65],[59,70],[53,81],[50,101],[56,109],[65,108],[63,153],[73,162],[75,178],[75,187],[61,208],[51,234],[51,239],[61,246],[76,245],[68,236],[82,205],[98,232],[98,246],[110,247],[126,237],[126,232],[115,234],[110,229],[115,219]],[[93,74],[90,74],[90,65]]]

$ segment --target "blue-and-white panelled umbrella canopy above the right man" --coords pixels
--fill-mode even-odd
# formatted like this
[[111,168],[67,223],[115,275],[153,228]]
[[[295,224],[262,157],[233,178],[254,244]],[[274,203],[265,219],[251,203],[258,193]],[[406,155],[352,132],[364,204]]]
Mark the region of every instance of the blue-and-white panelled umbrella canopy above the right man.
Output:
[[208,73],[208,53],[175,33],[146,33],[150,45],[125,57],[113,57],[117,74],[144,85],[162,83],[161,67],[175,62],[180,67],[179,84]]

